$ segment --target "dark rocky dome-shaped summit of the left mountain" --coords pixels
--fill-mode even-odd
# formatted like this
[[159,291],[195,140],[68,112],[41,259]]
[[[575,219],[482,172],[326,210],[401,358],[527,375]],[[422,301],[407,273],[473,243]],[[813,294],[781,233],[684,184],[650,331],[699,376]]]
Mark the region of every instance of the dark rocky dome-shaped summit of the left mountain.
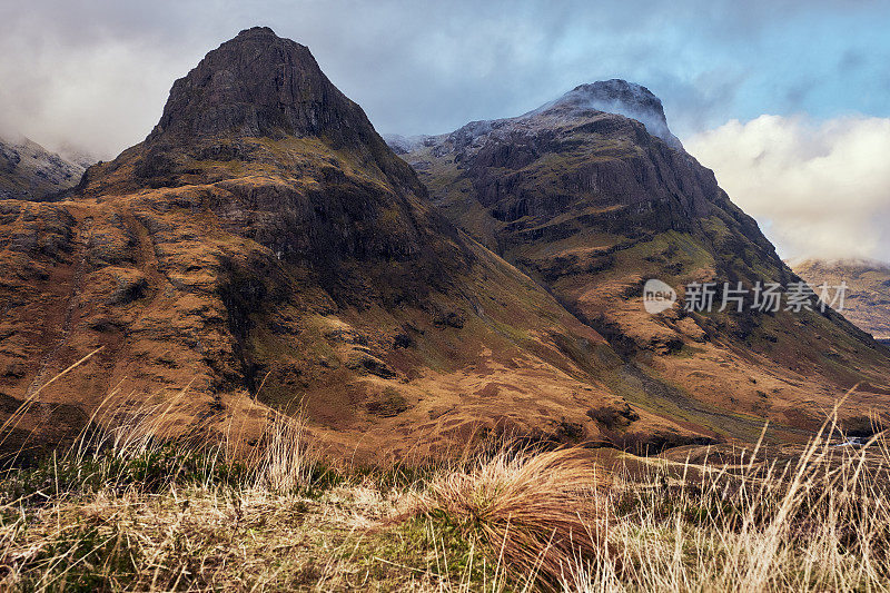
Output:
[[324,135],[335,144],[355,144],[369,128],[308,48],[255,27],[207,53],[174,83],[148,141]]

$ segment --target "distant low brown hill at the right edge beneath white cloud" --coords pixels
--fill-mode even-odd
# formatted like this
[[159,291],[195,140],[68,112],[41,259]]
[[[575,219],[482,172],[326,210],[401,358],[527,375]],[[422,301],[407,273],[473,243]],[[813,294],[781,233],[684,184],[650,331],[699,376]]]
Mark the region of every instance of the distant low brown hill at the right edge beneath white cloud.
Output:
[[821,286],[846,283],[843,316],[874,339],[890,342],[890,264],[862,259],[807,259],[793,265],[794,273]]

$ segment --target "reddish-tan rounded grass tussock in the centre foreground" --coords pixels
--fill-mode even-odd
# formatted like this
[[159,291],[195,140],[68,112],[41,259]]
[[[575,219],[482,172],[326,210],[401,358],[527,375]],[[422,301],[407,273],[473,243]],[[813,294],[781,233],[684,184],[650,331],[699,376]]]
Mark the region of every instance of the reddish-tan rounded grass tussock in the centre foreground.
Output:
[[522,572],[556,584],[568,560],[603,556],[605,471],[578,451],[502,449],[434,478],[418,510]]

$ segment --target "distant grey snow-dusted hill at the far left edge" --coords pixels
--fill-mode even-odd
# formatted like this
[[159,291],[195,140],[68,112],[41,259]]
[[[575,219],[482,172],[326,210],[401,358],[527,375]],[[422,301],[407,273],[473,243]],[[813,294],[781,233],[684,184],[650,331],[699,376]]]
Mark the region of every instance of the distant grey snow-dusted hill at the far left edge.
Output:
[[77,185],[85,168],[27,138],[0,138],[0,199],[43,199]]

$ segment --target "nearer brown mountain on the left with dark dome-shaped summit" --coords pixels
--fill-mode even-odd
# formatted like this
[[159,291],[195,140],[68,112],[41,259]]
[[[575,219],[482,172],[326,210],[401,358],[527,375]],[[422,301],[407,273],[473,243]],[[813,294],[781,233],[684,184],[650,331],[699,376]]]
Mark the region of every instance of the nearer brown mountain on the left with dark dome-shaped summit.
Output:
[[626,366],[609,342],[439,214],[267,28],[207,53],[145,141],[62,199],[0,201],[0,409],[34,399],[7,447],[61,442],[103,404],[97,422],[154,405],[165,431],[248,445],[264,409],[304,414],[373,459],[491,431],[721,438],[630,404],[603,378]]

